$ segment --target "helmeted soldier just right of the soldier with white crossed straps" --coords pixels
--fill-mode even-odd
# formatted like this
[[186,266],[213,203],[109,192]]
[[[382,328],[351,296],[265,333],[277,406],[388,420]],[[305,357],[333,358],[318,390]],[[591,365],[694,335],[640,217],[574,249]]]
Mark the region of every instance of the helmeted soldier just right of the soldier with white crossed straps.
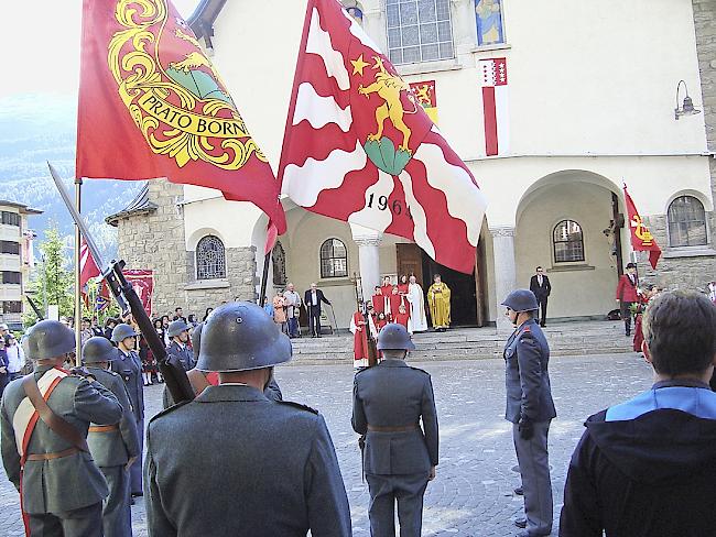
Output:
[[137,420],[124,383],[117,373],[108,371],[109,362],[117,360],[117,349],[105,337],[93,337],[83,347],[83,360],[89,374],[110,390],[123,408],[117,425],[91,424],[87,443],[109,486],[102,505],[105,537],[131,537],[130,468],[139,456]]

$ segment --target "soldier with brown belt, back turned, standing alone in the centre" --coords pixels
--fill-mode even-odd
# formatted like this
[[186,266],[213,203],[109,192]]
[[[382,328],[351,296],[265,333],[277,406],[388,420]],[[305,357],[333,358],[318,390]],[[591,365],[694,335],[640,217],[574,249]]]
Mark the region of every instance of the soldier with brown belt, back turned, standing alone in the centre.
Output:
[[405,327],[386,325],[378,335],[383,360],[354,380],[351,423],[366,436],[362,457],[373,537],[394,537],[395,501],[401,537],[420,537],[423,494],[435,478],[437,410],[430,374],[405,363],[414,349]]

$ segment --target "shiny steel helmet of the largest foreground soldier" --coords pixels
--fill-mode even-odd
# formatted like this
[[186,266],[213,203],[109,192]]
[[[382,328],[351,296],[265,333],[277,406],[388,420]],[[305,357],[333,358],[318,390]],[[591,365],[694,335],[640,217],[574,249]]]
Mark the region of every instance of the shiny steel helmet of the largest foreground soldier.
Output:
[[262,307],[236,302],[216,308],[204,322],[196,369],[257,370],[288,362],[292,354],[291,340]]

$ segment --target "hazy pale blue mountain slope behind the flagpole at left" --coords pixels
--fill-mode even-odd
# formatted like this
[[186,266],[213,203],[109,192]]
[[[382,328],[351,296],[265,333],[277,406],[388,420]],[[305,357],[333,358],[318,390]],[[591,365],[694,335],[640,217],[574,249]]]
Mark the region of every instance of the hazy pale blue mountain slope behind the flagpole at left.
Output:
[[[50,161],[74,195],[77,101],[75,96],[22,95],[0,100],[0,199],[44,212],[30,218],[44,240],[55,224],[72,259],[74,226],[50,176]],[[118,158],[121,157],[118,149]],[[106,259],[117,255],[117,230],[105,218],[133,199],[142,182],[85,180],[82,213]]]

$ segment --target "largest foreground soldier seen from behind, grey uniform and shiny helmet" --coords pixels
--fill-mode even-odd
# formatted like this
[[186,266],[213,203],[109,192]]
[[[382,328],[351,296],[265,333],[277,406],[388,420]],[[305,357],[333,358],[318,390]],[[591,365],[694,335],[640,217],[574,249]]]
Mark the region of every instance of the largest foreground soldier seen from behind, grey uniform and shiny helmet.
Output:
[[273,365],[291,355],[289,338],[256,304],[211,313],[197,369],[218,372],[219,385],[149,423],[150,536],[350,536],[348,498],[323,417],[263,395]]

